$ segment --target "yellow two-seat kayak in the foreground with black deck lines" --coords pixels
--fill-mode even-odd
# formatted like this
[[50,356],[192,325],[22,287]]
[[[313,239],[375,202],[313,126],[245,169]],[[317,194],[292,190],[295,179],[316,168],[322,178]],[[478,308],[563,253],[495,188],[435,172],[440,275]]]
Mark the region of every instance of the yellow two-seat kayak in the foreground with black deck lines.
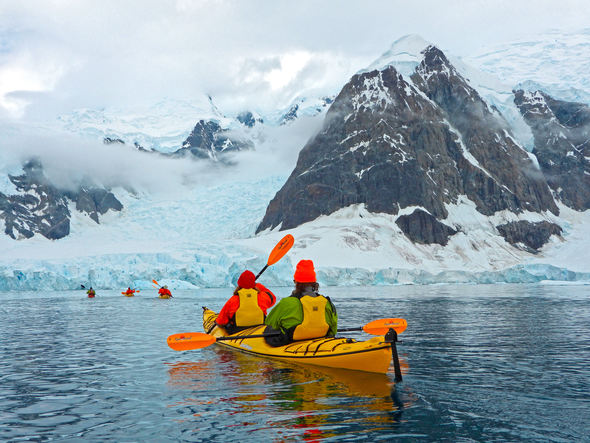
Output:
[[[205,332],[215,337],[229,336],[225,329],[215,324],[216,318],[215,312],[203,308]],[[386,374],[391,363],[391,345],[385,343],[382,335],[365,341],[352,338],[315,338],[278,347],[267,345],[261,337],[240,339],[243,335],[262,334],[265,328],[264,325],[253,326],[231,335],[236,340],[218,341],[216,344],[260,357],[379,374]]]

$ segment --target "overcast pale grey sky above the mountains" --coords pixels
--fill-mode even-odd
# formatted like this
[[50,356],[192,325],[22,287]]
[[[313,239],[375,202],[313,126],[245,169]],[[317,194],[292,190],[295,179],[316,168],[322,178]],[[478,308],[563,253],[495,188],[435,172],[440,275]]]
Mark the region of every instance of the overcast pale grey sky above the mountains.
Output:
[[588,2],[0,0],[0,116],[191,99],[283,106],[337,92],[393,41],[468,56],[590,23]]

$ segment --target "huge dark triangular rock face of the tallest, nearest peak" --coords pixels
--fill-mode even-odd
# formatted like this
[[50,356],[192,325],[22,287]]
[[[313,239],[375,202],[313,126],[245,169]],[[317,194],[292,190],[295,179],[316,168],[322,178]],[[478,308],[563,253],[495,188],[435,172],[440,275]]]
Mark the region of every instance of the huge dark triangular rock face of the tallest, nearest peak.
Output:
[[[504,119],[439,49],[429,46],[422,55],[409,79],[392,66],[352,77],[258,232],[291,229],[361,203],[394,215],[418,206],[440,221],[448,215],[445,204],[461,195],[485,215],[558,213],[543,175]],[[414,217],[426,222],[420,213]],[[444,241],[429,223],[431,233],[415,238]]]

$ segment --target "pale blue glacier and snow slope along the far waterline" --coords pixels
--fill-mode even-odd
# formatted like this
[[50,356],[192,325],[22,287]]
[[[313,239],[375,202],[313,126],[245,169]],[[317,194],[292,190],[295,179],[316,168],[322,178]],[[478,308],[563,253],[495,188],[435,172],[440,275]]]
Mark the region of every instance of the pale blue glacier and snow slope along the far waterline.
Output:
[[[322,285],[396,285],[433,283],[590,282],[587,255],[590,211],[560,207],[562,239],[552,237],[539,254],[506,243],[494,230],[514,214],[496,214],[490,222],[463,199],[449,206],[447,224],[461,223],[469,235],[451,237],[449,245],[411,243],[396,216],[373,214],[363,205],[322,216],[289,231],[254,235],[268,201],[286,175],[142,196],[116,189],[125,202],[101,224],[82,214],[72,219],[70,236],[52,241],[0,237],[0,290],[50,291],[134,286],[152,287],[152,279],[173,289],[231,287],[244,269],[257,273],[273,246],[286,234],[295,245],[269,267],[261,281],[290,286],[297,261],[312,259]],[[171,192],[171,191],[167,191]],[[174,198],[172,198],[174,197]],[[522,214],[535,220],[538,214]]]

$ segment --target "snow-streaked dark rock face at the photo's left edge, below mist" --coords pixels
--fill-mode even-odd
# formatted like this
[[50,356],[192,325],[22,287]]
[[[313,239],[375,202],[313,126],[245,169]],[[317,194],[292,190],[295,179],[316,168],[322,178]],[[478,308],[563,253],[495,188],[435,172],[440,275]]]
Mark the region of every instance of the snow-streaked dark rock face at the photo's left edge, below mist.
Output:
[[78,192],[61,191],[53,186],[38,161],[23,166],[24,173],[9,176],[18,194],[0,193],[0,219],[4,232],[13,239],[31,238],[36,233],[57,240],[70,233],[70,202],[76,209],[86,212],[97,223],[98,215],[108,210],[120,211],[121,202],[109,191],[98,188],[81,188]]

